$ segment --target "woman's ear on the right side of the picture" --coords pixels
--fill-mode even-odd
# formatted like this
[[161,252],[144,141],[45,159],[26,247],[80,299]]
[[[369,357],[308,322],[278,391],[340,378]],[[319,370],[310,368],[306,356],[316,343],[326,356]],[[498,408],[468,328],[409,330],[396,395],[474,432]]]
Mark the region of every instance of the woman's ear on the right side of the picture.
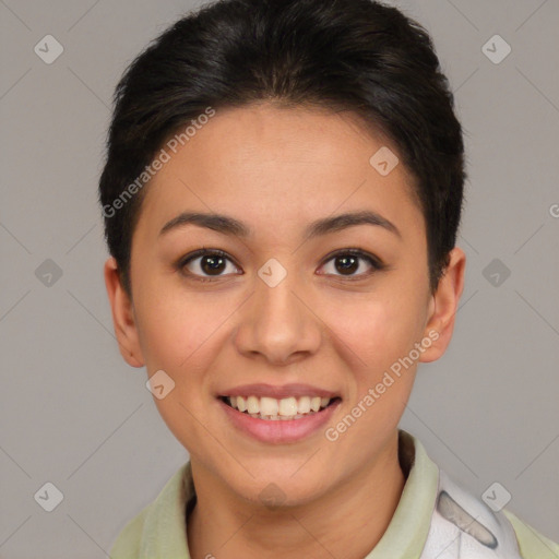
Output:
[[460,297],[464,289],[464,272],[466,255],[457,247],[450,251],[450,261],[443,276],[439,281],[437,292],[429,301],[429,313],[424,331],[424,340],[431,340],[419,361],[435,361],[447,350],[454,330],[454,319]]

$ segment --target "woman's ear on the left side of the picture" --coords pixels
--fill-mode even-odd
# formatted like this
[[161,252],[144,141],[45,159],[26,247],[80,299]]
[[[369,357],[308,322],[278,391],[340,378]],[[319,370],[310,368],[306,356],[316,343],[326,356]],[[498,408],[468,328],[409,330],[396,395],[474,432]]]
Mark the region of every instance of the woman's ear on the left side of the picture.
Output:
[[105,262],[104,273],[120,354],[131,367],[143,367],[133,305],[122,288],[117,261],[112,257]]

